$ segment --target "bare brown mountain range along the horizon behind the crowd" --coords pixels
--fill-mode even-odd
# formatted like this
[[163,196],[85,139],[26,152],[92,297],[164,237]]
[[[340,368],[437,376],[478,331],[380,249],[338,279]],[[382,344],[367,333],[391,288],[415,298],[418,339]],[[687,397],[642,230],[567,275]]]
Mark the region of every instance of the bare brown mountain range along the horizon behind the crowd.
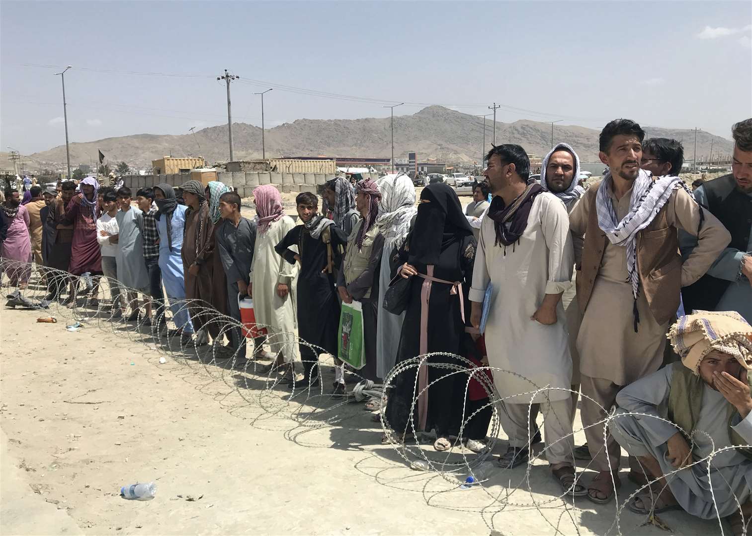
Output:
[[[672,137],[684,142],[687,160],[693,158],[694,131],[689,129],[645,128],[648,137]],[[379,157],[389,158],[390,119],[298,119],[265,132],[267,158],[281,156]],[[597,161],[599,131],[580,126],[556,125],[554,141],[566,141],[578,151],[582,161]],[[261,158],[261,129],[247,123],[234,123],[232,135],[235,160]],[[493,122],[488,119],[486,146],[490,148]],[[697,132],[697,155],[729,155],[733,144],[705,131]],[[497,143],[519,143],[527,152],[544,155],[550,148],[551,125],[520,120],[496,122]],[[199,150],[198,144],[201,146]],[[395,158],[417,152],[420,161],[478,161],[483,144],[483,120],[441,106],[430,106],[411,116],[394,118]],[[227,126],[217,125],[192,134],[133,134],[85,143],[71,143],[71,165],[96,162],[101,150],[111,163],[126,161],[131,167],[148,168],[151,160],[165,155],[202,155],[208,163],[227,161]],[[40,165],[65,162],[65,145],[30,155]]]

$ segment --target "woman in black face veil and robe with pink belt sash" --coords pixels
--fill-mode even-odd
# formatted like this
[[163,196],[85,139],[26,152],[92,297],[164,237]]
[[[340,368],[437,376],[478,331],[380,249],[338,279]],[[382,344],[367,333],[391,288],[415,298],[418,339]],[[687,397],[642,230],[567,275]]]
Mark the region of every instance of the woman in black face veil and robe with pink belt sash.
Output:
[[[393,255],[393,275],[400,273],[411,279],[398,365],[432,352],[462,354],[462,313],[464,310],[469,321],[467,293],[474,258],[472,229],[453,189],[443,183],[423,188],[413,230]],[[459,361],[437,355],[430,357],[429,363]],[[447,376],[450,372],[424,363],[420,370],[408,369],[393,378],[387,387],[385,414],[399,438],[411,435],[413,428],[419,432],[435,429],[436,450],[450,447],[449,436],[457,435],[462,424],[467,383],[465,374]],[[435,380],[437,383],[432,384]],[[420,394],[429,384],[431,387]]]

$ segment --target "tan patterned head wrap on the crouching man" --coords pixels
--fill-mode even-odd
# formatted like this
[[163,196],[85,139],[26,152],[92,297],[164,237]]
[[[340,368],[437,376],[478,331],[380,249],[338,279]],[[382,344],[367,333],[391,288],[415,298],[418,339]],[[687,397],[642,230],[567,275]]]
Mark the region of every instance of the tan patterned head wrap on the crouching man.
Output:
[[695,311],[679,318],[668,337],[681,363],[695,374],[711,351],[732,355],[752,369],[752,327],[738,312]]

